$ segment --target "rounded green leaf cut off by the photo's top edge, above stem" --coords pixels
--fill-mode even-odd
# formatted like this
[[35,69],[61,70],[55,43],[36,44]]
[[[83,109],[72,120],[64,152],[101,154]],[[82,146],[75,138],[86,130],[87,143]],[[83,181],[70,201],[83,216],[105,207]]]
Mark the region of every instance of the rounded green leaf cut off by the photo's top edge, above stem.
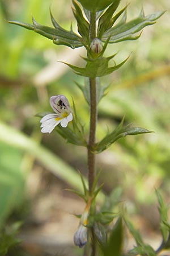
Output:
[[111,5],[114,0],[78,0],[81,5],[92,12],[101,11]]

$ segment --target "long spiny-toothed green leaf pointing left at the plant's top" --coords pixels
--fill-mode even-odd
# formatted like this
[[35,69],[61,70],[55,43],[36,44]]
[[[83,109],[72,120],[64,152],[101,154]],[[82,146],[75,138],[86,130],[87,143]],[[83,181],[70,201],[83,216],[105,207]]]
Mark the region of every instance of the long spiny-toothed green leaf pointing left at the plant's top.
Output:
[[18,21],[8,21],[11,24],[15,24],[28,30],[33,30],[36,33],[45,36],[48,39],[53,40],[54,44],[60,45],[63,44],[65,46],[69,46],[71,48],[81,47],[81,38],[76,35],[72,30],[67,31],[64,28],[60,27],[56,20],[54,20],[52,13],[50,13],[53,27],[42,26],[37,23],[35,19],[32,18],[33,24],[18,22]]

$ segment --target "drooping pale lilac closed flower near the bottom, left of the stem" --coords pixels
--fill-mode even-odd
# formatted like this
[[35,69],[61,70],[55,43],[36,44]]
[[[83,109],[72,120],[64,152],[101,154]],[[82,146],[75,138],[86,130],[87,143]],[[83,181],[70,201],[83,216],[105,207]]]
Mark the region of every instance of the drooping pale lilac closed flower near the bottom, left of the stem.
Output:
[[75,245],[82,248],[87,243],[87,228],[82,224],[79,225],[78,229],[74,234],[74,243]]

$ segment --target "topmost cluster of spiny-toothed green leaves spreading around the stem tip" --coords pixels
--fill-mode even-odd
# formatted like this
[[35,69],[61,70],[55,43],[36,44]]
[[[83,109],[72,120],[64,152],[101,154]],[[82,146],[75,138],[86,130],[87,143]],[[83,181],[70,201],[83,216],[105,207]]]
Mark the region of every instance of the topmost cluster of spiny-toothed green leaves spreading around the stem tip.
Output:
[[[156,19],[158,19],[164,13],[164,11],[158,11],[155,14],[145,16],[142,10],[137,18],[126,22],[127,6],[120,10],[117,14],[114,14],[120,4],[120,0],[78,1],[82,4],[82,6],[73,0],[73,14],[77,22],[79,35],[73,32],[72,28],[70,28],[70,30],[65,30],[59,26],[51,12],[50,16],[54,27],[43,26],[37,23],[33,18],[33,24],[18,21],[9,22],[27,28],[28,30],[33,30],[38,34],[53,40],[53,43],[57,45],[63,44],[71,48],[81,46],[89,48],[91,13],[96,13],[96,19],[99,19],[96,35],[97,38],[103,42],[106,42],[109,39],[108,43],[117,43],[124,40],[134,40],[139,38],[141,34],[139,33],[136,35],[136,33],[141,31],[144,27],[154,24]],[[117,19],[120,18],[122,14],[122,19],[115,25],[114,23],[116,23]]]

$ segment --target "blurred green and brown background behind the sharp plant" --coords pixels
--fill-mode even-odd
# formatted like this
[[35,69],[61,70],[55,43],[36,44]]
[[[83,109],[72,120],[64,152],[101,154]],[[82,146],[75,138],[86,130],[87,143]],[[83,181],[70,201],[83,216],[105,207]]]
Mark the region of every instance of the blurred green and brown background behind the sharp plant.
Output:
[[[78,115],[88,129],[88,106],[74,82],[83,84],[84,79],[57,62],[83,65],[80,55],[86,52],[83,48],[55,46],[32,31],[6,22],[31,23],[32,15],[37,22],[52,26],[50,7],[62,27],[69,29],[72,21],[76,31],[70,0],[0,3],[0,225],[22,220],[20,237],[27,240],[24,253],[55,255],[48,253],[56,243],[73,245],[71,236],[78,224],[74,217],[69,219],[73,227],[62,232],[70,225],[66,221],[69,213],[81,213],[83,203],[63,188],[80,189],[76,170],[87,175],[86,148],[66,144],[55,131],[42,135],[36,114],[51,111],[50,96],[65,94],[70,102],[74,98]],[[124,5],[126,1],[121,2],[121,7]],[[131,55],[120,70],[101,79],[101,84],[110,86],[99,104],[97,138],[102,138],[108,127],[116,127],[124,115],[125,123],[133,122],[155,133],[120,139],[97,156],[97,163],[104,192],[109,195],[116,189],[114,195],[125,201],[129,212],[157,230],[154,190],[162,190],[167,200],[170,193],[170,9],[167,0],[131,0],[128,19],[137,16],[142,6],[146,14],[167,12],[154,26],[146,27],[138,40],[109,45],[106,55],[118,52],[117,63]],[[46,222],[57,223],[57,228],[43,228]],[[49,249],[42,254],[37,246],[41,245],[39,238],[45,234],[44,241],[48,241],[50,236],[54,238],[53,232],[57,238],[53,244],[45,243]],[[29,234],[37,234],[37,240],[29,240]]]

